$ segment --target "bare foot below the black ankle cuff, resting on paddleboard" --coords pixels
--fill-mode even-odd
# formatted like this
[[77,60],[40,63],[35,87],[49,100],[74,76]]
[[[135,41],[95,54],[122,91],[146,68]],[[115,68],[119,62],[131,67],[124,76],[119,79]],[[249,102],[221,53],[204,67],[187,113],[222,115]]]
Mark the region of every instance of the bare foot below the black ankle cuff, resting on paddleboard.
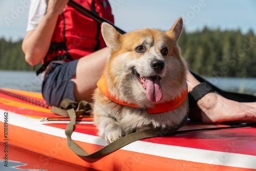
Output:
[[206,94],[198,100],[197,105],[201,110],[204,123],[256,122],[256,108],[246,105],[246,103],[226,99],[216,93]]

